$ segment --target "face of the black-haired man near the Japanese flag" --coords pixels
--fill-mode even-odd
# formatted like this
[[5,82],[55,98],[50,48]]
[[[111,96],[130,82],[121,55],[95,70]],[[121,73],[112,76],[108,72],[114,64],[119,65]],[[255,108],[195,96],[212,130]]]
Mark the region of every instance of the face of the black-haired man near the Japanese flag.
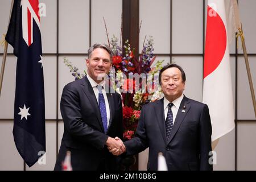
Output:
[[181,96],[185,89],[185,82],[178,68],[168,68],[162,73],[161,88],[164,96],[171,102]]

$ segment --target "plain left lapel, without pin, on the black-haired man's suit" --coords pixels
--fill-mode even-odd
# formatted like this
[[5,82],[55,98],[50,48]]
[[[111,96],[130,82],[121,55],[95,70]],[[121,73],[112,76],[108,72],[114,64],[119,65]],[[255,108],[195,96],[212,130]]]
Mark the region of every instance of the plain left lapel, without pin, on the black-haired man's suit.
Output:
[[155,115],[158,120],[158,125],[164,141],[166,142],[166,126],[164,125],[164,108],[163,108],[163,98],[159,101],[156,101],[155,106]]

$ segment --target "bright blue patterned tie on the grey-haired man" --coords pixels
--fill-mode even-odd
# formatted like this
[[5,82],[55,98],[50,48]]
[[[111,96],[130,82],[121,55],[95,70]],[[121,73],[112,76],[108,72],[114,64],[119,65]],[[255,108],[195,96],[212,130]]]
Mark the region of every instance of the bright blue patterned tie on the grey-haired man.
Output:
[[98,106],[100,107],[101,111],[101,119],[104,127],[104,132],[107,133],[108,131],[108,119],[106,114],[106,104],[104,100],[104,96],[102,93],[102,86],[98,86]]

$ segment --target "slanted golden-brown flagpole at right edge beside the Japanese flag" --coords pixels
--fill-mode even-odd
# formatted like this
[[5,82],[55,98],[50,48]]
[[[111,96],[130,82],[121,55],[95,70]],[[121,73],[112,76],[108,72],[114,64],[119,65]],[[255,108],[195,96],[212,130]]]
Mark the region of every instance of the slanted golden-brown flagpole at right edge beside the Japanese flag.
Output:
[[243,37],[243,29],[242,27],[238,29],[239,34],[242,42],[242,48],[243,48],[243,56],[245,57],[245,65],[246,65],[246,71],[247,71],[247,76],[249,80],[249,85],[250,85],[250,90],[251,90],[251,99],[253,100],[253,107],[254,107],[254,114],[256,117],[256,101],[255,101],[255,94],[254,94],[254,89],[253,89],[253,80],[251,79],[251,71],[250,71],[250,65],[248,61],[248,55],[245,47],[245,38]]

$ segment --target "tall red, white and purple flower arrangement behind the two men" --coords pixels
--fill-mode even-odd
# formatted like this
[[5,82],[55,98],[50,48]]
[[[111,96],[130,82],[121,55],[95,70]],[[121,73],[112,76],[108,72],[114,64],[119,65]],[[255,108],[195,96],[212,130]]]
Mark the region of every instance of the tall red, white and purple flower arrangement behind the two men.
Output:
[[[118,45],[118,38],[113,35],[110,41],[108,37],[108,43],[113,52],[113,67],[109,73],[110,86],[122,96],[123,139],[130,140],[137,129],[142,106],[154,102],[162,95],[158,84],[158,73],[162,69],[164,60],[157,61],[155,67],[151,68],[156,59],[156,56],[153,56],[152,36],[148,39],[145,37],[138,59],[133,54],[134,49],[131,49],[129,40],[126,40],[122,47],[121,42]],[[76,80],[86,75],[85,71],[81,75],[78,68],[73,67],[65,57],[64,63]]]

